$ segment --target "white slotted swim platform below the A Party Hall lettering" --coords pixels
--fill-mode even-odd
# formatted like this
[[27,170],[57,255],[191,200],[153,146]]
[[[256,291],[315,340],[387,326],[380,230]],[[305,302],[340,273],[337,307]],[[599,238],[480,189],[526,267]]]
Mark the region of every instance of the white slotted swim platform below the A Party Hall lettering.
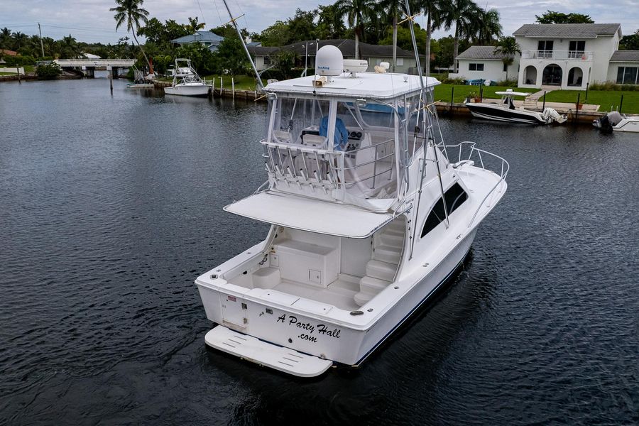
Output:
[[260,339],[234,332],[221,325],[209,331],[204,341],[207,345],[227,354],[275,368],[293,376],[320,376],[333,365],[333,361],[329,359],[320,359],[283,346],[262,342]]

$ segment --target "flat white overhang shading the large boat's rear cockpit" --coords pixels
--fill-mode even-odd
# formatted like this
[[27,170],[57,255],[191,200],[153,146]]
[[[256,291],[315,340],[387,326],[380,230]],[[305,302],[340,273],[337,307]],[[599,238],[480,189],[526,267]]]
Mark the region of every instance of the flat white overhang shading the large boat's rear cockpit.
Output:
[[393,220],[393,214],[373,213],[349,204],[261,192],[224,207],[226,212],[269,224],[345,236],[366,238]]

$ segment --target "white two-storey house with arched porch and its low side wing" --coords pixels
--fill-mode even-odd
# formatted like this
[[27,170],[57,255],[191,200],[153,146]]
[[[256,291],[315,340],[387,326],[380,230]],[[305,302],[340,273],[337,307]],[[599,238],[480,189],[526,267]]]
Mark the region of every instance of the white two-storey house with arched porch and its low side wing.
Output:
[[[513,35],[521,55],[508,70],[510,73],[512,69],[513,75],[517,70],[519,87],[586,89],[589,83],[606,81],[639,84],[639,51],[618,50],[621,24],[529,23]],[[457,57],[459,73],[451,77],[502,80],[495,78],[498,65],[489,48],[478,47]],[[483,72],[479,72],[480,67]]]

